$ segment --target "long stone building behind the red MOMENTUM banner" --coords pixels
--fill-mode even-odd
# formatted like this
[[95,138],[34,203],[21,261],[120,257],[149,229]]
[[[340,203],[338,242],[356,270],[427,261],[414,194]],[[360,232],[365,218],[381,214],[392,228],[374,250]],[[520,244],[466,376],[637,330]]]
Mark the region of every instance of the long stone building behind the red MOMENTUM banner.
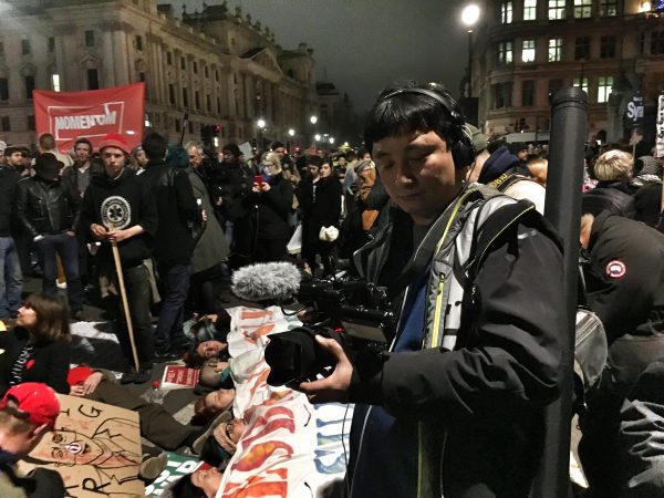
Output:
[[[32,90],[145,82],[146,127],[219,144],[305,129],[317,110],[313,51],[284,50],[238,8],[176,14],[156,0],[7,0],[0,7],[0,137],[34,143]],[[185,125],[184,116],[188,114]]]

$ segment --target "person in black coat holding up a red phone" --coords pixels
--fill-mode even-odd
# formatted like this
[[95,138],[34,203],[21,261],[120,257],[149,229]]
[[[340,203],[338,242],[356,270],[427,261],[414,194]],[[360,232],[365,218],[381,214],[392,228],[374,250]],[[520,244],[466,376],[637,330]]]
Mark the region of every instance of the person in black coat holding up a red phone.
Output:
[[261,160],[262,176],[255,178],[251,201],[256,206],[256,262],[282,261],[291,236],[288,224],[293,205],[293,186],[283,177],[277,153]]

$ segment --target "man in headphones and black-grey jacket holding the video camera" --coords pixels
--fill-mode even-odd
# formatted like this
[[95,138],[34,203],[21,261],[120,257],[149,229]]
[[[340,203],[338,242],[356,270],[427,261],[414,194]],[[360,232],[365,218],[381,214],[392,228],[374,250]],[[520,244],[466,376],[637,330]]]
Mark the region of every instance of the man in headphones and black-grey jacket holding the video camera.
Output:
[[390,352],[350,353],[299,388],[356,403],[350,497],[527,497],[543,454],[544,408],[560,394],[562,255],[531,203],[464,184],[464,117],[436,84],[386,89],[365,142],[400,209],[359,253],[398,295]]

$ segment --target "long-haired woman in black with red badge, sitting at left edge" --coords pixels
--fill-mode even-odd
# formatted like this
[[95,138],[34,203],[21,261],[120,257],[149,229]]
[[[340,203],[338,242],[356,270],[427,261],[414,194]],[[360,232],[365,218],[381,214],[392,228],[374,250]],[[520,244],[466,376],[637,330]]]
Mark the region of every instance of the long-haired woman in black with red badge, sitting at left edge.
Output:
[[0,395],[22,382],[43,382],[69,393],[70,340],[65,305],[43,294],[28,295],[15,326],[0,334]]

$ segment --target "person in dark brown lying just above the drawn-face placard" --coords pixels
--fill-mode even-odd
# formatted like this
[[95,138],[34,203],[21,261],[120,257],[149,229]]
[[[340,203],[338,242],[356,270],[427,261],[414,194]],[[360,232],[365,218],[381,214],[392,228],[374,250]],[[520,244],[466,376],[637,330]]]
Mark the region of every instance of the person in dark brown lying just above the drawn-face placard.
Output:
[[70,394],[98,401],[138,413],[141,434],[164,449],[191,447],[203,430],[187,427],[177,422],[162,405],[148,403],[123,385],[110,371],[93,371],[89,366],[76,366],[68,375]]

